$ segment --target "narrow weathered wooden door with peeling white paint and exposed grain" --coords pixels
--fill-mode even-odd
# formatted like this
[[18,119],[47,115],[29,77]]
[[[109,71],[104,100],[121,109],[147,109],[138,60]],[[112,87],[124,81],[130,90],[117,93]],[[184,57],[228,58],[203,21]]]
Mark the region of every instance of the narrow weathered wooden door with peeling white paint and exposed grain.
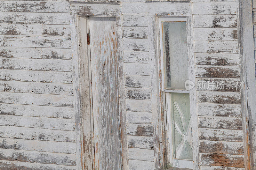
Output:
[[122,167],[116,18],[89,17],[95,168]]

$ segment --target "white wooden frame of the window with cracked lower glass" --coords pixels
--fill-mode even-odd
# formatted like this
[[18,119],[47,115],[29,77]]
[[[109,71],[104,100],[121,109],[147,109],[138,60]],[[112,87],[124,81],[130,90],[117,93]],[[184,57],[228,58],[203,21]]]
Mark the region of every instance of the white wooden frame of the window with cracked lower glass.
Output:
[[[161,74],[162,74],[162,91],[163,91],[163,98],[165,100],[165,92],[175,92],[175,93],[189,93],[189,90],[181,90],[181,89],[166,89],[165,88],[165,76],[164,76],[164,48],[163,48],[163,28],[162,28],[162,21],[177,21],[177,22],[187,22],[185,17],[157,17],[158,18],[158,29],[159,29],[159,38],[160,38],[160,56],[161,56]],[[191,168],[193,169],[193,160],[187,160],[187,159],[173,159],[173,151],[172,151],[172,120],[171,120],[171,108],[170,106],[170,97],[167,95],[166,98],[167,101],[164,102],[164,107],[166,110],[166,113],[164,113],[164,123],[165,130],[167,130],[168,127],[168,134],[169,134],[169,149],[170,149],[170,163],[173,167],[177,168]],[[191,102],[190,102],[191,103]]]

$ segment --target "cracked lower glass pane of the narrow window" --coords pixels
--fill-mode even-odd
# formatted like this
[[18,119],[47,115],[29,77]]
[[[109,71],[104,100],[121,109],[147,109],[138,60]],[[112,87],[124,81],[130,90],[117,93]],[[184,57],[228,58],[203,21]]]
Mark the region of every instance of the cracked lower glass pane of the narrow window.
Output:
[[[169,96],[167,96],[169,95]],[[190,103],[188,93],[166,93],[170,102],[172,156],[174,159],[193,159]]]

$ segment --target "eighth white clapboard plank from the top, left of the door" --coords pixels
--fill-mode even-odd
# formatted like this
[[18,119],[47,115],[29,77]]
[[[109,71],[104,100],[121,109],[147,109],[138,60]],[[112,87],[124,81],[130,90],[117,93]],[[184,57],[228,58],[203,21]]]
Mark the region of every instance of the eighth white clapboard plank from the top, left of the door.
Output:
[[66,83],[39,83],[39,82],[17,82],[1,81],[1,92],[22,92],[37,94],[60,94],[73,95],[73,85]]

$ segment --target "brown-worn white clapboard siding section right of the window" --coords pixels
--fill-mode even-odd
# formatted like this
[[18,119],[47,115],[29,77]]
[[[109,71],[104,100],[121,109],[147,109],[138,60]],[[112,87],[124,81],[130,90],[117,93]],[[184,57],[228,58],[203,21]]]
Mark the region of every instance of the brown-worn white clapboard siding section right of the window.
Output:
[[[239,81],[237,2],[192,0],[192,15],[197,82]],[[197,114],[200,168],[244,169],[240,90],[197,91]]]

